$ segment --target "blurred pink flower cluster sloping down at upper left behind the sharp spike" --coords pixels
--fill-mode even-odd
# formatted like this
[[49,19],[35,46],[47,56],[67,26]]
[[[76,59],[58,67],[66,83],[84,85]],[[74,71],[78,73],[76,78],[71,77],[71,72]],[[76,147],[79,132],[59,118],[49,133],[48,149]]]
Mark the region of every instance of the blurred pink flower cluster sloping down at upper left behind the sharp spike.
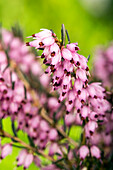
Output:
[[[32,73],[34,76],[39,78],[39,81],[43,86],[47,86],[50,78],[43,73],[41,65],[37,62],[35,55],[26,48],[26,45],[23,43],[21,38],[15,37],[13,33],[5,29],[1,30],[1,34],[1,50],[5,50],[5,52],[7,52],[7,57],[9,57],[10,60],[15,61],[24,73]],[[2,53],[4,53],[3,51],[1,51],[1,55],[4,55]],[[0,58],[0,63],[2,63],[2,65],[3,62],[6,64],[4,56]],[[5,67],[4,65],[2,67]]]

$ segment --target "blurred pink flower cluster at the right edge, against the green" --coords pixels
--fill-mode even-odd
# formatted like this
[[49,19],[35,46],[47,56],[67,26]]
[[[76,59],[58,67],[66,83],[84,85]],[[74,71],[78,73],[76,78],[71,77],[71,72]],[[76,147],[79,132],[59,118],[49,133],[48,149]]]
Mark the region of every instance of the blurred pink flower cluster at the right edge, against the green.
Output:
[[95,54],[93,74],[105,87],[113,87],[113,44],[99,48]]

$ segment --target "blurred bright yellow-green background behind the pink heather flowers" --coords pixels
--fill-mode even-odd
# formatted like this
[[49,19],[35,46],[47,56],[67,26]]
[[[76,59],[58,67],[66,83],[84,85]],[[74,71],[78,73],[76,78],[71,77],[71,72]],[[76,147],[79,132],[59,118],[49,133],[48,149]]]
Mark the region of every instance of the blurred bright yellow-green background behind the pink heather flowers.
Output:
[[[99,44],[106,45],[113,39],[112,0],[0,0],[0,22],[4,28],[18,23],[26,37],[41,28],[53,29],[60,38],[61,24],[65,24],[71,42],[78,42],[80,53],[90,54],[90,69],[93,53]],[[101,63],[100,63],[101,64]],[[79,133],[79,132],[78,132]],[[0,170],[15,167],[15,155],[0,163]],[[18,168],[19,170],[22,168]],[[37,169],[34,165],[29,169]]]

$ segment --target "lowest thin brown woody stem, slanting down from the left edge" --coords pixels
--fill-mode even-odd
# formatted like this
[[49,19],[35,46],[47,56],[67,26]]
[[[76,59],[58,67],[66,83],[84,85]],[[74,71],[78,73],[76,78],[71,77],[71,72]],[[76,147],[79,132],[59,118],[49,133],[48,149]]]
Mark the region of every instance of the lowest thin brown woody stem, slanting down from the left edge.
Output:
[[[42,155],[43,157],[47,158],[48,160],[50,160],[50,161],[52,161],[52,162],[55,162],[55,160],[54,160],[53,158],[51,158],[50,156],[46,155],[43,151],[38,150],[37,148],[34,148],[34,147],[28,145],[27,143],[25,143],[24,141],[22,141],[22,140],[19,139],[18,137],[12,136],[11,134],[3,131],[2,129],[0,129],[0,136],[13,139],[14,141],[19,142],[19,143],[20,143],[21,145],[23,145],[25,148],[27,148],[27,149],[29,149],[29,150],[32,150],[32,151],[35,152],[35,153],[39,153],[40,155]],[[16,146],[16,145],[15,145],[15,146]]]

